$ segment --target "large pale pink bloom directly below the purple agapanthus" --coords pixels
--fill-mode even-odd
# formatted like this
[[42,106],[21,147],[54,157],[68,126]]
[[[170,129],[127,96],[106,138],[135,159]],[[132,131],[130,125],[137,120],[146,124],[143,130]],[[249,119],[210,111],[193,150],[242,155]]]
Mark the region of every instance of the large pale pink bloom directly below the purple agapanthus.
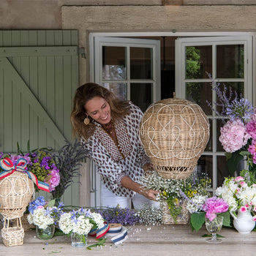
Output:
[[227,121],[224,127],[220,128],[220,133],[219,141],[222,143],[224,150],[230,153],[246,145],[250,138],[244,123],[239,118]]

